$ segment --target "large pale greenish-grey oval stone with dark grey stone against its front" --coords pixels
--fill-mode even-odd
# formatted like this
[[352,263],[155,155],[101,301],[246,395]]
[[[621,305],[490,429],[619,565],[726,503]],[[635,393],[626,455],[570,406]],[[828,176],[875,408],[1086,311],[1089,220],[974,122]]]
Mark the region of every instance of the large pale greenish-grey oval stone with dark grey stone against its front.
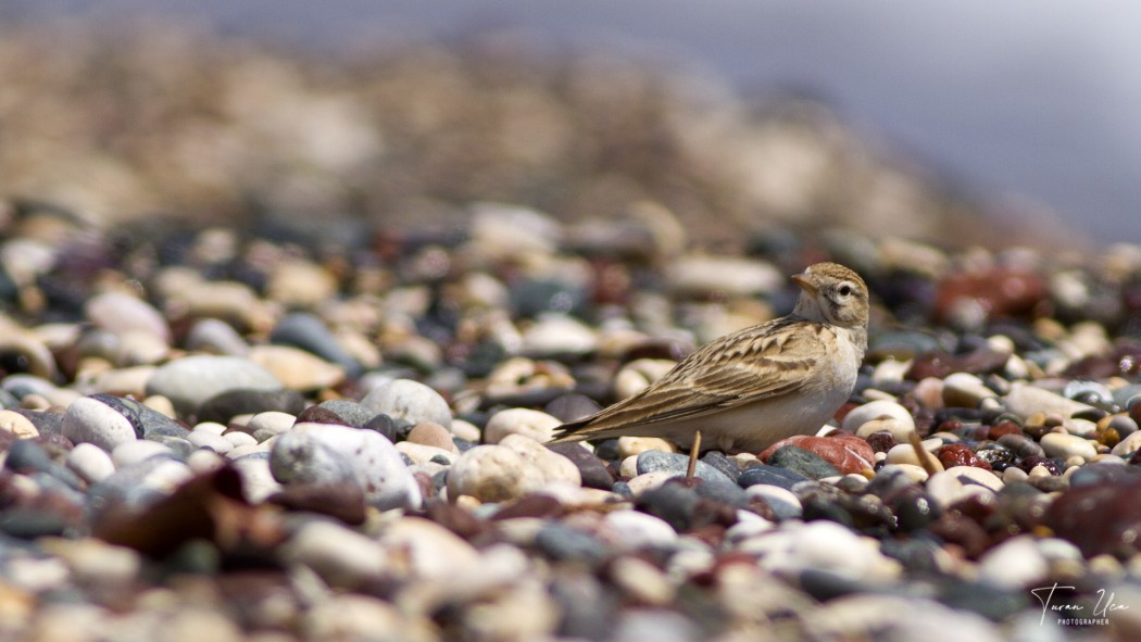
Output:
[[226,391],[281,388],[277,377],[249,359],[195,355],[159,367],[147,382],[147,395],[162,395],[179,413],[194,414],[208,400]]

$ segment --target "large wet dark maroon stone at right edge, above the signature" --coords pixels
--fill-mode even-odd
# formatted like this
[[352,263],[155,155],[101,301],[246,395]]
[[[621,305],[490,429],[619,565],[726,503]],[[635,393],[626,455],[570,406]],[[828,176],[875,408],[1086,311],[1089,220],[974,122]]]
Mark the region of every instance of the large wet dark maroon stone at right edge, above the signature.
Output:
[[1127,559],[1141,551],[1141,479],[1101,481],[1062,491],[1046,509],[1043,523],[1092,558]]

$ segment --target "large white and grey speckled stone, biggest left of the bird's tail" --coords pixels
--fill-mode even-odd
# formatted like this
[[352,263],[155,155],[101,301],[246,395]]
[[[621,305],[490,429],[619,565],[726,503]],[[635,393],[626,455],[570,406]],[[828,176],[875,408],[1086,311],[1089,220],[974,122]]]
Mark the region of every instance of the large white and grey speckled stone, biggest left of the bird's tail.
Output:
[[404,458],[379,432],[347,425],[299,423],[277,438],[270,469],[282,483],[340,482],[349,478],[380,510],[416,509],[420,487]]

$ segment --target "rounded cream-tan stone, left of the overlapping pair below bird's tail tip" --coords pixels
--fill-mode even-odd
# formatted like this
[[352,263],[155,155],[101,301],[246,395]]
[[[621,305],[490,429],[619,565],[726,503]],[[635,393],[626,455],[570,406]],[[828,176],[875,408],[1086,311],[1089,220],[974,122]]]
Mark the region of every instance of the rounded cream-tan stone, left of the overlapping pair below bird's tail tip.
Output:
[[507,502],[540,490],[543,471],[500,445],[476,446],[460,455],[447,473],[447,496]]

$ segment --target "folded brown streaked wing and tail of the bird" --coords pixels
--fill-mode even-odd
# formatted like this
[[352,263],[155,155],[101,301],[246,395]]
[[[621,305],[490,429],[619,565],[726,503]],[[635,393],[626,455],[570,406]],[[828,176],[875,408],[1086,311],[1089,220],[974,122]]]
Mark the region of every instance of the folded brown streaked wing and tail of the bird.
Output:
[[814,322],[783,317],[722,336],[641,392],[564,424],[558,439],[697,418],[803,389],[819,371],[823,330]]

